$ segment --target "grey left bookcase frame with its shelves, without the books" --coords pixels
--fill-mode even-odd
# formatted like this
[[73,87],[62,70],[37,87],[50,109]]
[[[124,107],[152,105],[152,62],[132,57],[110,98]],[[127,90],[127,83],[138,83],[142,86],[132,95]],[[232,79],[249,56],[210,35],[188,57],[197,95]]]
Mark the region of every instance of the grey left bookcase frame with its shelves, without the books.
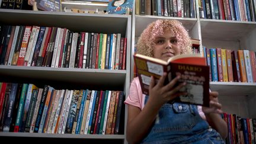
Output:
[[[75,32],[120,33],[127,38],[126,69],[78,69],[49,68],[32,66],[0,66],[0,81],[31,83],[43,88],[50,85],[56,89],[108,89],[129,94],[130,86],[130,43],[131,16],[105,14],[77,14],[69,12],[24,11],[0,9],[0,23],[6,25],[37,25],[68,28]],[[104,24],[103,24],[104,23]],[[126,108],[125,108],[126,109]],[[126,110],[124,110],[126,111]],[[56,142],[100,142],[124,143],[126,132],[126,112],[120,126],[121,135],[71,135],[47,133],[8,133],[0,132],[1,139],[14,140],[53,140]],[[34,142],[34,141],[33,141]]]

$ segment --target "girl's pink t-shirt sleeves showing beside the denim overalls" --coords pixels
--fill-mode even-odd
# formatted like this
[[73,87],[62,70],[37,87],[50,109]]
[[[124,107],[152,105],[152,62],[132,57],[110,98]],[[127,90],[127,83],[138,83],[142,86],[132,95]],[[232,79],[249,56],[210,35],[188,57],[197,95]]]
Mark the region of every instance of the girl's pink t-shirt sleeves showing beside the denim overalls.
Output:
[[[142,94],[142,89],[140,87],[139,78],[133,78],[132,84],[130,85],[130,94],[124,101],[125,104],[130,104],[135,107],[142,108],[144,107],[144,101],[145,101],[145,94]],[[205,120],[205,116],[203,111],[201,110],[201,106],[197,106],[197,110],[199,111],[199,114],[201,118]]]

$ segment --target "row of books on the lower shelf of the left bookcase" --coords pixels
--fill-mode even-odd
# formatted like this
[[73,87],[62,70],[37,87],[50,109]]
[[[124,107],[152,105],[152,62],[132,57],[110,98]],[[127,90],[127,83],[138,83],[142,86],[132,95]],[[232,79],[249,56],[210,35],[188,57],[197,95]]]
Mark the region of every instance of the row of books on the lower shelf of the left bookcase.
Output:
[[[57,90],[49,85],[0,83],[4,132],[120,134],[123,91]],[[121,121],[121,122],[120,122]]]

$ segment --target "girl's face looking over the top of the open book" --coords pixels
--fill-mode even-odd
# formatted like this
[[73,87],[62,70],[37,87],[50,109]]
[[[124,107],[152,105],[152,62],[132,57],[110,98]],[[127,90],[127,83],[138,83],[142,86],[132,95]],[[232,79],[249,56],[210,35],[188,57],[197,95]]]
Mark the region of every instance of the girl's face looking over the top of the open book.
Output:
[[169,57],[181,54],[181,46],[172,33],[160,35],[153,42],[155,43],[153,57],[167,61]]

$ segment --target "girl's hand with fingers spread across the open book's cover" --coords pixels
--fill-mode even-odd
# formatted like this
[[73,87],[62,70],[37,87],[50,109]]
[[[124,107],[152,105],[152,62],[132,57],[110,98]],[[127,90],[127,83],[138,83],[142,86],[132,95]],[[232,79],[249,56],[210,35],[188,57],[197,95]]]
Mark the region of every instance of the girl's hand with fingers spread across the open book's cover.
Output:
[[174,100],[174,98],[186,94],[185,92],[180,92],[180,89],[184,87],[185,82],[175,87],[175,84],[178,82],[178,79],[180,79],[180,76],[172,79],[169,84],[164,85],[166,77],[167,73],[165,72],[156,84],[155,79],[153,76],[151,76],[151,83],[149,85],[149,101],[152,101],[152,103],[159,108],[168,101]]

